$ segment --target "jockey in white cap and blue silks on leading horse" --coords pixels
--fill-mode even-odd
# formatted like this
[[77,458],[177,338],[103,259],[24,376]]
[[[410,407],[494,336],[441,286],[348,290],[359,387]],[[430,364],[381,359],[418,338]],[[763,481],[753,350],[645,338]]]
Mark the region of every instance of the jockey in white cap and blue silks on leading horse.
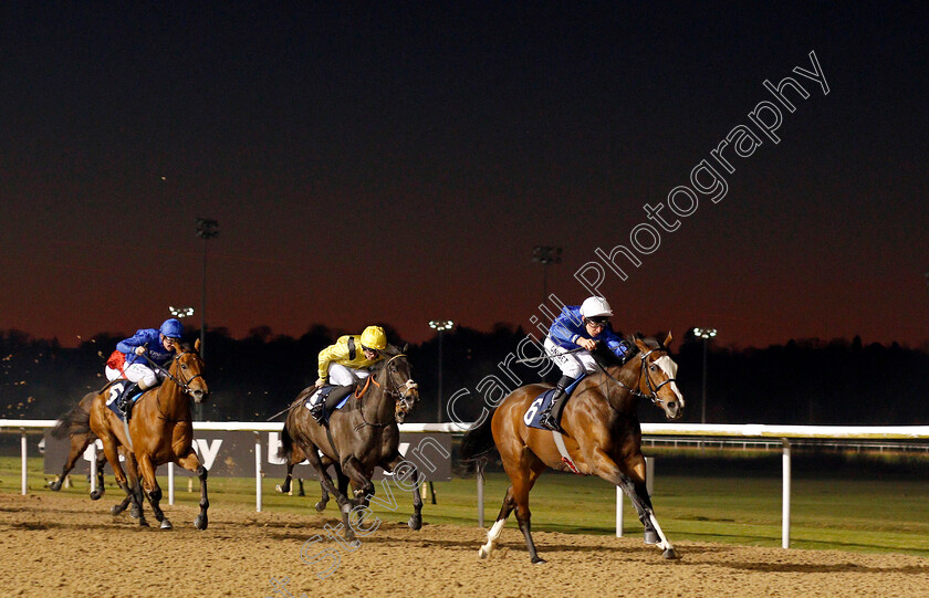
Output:
[[[609,317],[613,310],[603,297],[587,297],[584,303],[568,305],[552,322],[545,337],[545,352],[561,368],[562,377],[555,385],[552,402],[542,412],[539,423],[553,431],[561,431],[561,417],[567,400],[568,388],[577,378],[593,374],[597,363],[591,352],[597,342],[606,344],[619,359],[625,359],[629,347],[613,331]],[[575,353],[566,353],[566,352]]]

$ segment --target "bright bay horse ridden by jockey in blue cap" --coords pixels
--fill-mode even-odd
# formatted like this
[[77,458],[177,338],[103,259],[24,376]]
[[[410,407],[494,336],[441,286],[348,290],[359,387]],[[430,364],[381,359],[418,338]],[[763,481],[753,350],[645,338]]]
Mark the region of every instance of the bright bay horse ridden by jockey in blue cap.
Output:
[[[171,528],[160,508],[161,489],[155,478],[158,465],[171,462],[195,472],[200,479],[200,513],[194,520],[194,526],[206,529],[208,525],[207,510],[210,503],[207,497],[207,469],[194,452],[190,413],[190,399],[200,403],[209,392],[203,380],[203,361],[198,353],[199,347],[199,339],[192,349],[187,344],[181,345],[181,350],[171,359],[167,379],[143,392],[133,407],[128,424],[108,408],[108,403],[118,396],[117,392],[111,391],[115,390],[113,384],[94,394],[90,410],[91,430],[103,442],[103,452],[113,468],[116,483],[126,492],[134,507],[138,507],[142,526],[148,525],[142,512],[144,491],[161,528]],[[131,476],[134,470],[138,469],[140,486],[127,483],[119,463],[119,447],[125,450],[126,468]],[[114,512],[117,507],[114,507]]]

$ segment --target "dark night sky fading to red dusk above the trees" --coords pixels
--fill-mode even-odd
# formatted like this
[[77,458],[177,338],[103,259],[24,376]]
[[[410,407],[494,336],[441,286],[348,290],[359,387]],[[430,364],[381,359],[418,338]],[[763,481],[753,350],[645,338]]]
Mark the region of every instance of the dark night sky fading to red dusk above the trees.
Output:
[[[199,312],[209,217],[208,323],[237,337],[532,329],[533,246],[577,304],[633,234],[627,280],[599,261],[617,329],[929,340],[926,4],[0,4],[0,329]],[[733,130],[760,143],[728,172]],[[724,197],[649,220],[702,160]]]

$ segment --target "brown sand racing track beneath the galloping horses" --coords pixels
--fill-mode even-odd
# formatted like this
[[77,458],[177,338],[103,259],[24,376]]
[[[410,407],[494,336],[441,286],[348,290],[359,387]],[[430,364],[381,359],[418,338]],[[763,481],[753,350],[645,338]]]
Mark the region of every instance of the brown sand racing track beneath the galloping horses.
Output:
[[[325,515],[210,508],[210,526],[194,529],[196,510],[167,510],[175,529],[139,528],[114,518],[103,501],[39,492],[0,493],[0,596],[70,597],[368,597],[368,596],[929,596],[929,558],[823,550],[783,550],[678,543],[666,562],[639,538],[534,534],[549,562],[531,565],[510,522],[501,550],[478,559],[478,527],[427,525],[413,532],[385,520],[355,552],[326,539],[341,562],[326,579],[301,547]],[[154,524],[154,518],[152,518]]]

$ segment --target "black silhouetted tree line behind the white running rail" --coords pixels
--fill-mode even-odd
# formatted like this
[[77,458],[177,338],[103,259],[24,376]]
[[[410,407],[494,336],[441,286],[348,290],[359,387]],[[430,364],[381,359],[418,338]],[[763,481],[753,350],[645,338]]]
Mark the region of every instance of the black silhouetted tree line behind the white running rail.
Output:
[[[405,343],[385,326],[395,345]],[[196,331],[189,331],[192,342]],[[210,420],[263,421],[285,409],[316,379],[316,355],[341,334],[313,326],[299,338],[257,327],[246,338],[212,328],[206,338]],[[54,419],[105,384],[106,357],[125,334],[100,334],[76,348],[0,331],[0,418]],[[452,396],[463,421],[480,417],[486,402],[522,384],[540,380],[540,367],[515,365],[526,332],[498,324],[490,332],[458,327],[445,333],[443,394]],[[664,339],[661,334],[656,337]],[[703,346],[685,338],[674,346],[678,384],[685,395],[683,421],[699,422]],[[437,420],[438,338],[410,345],[408,354],[422,402],[409,421]],[[526,350],[525,355],[537,355]],[[891,344],[864,346],[860,338],[824,343],[791,340],[768,348],[709,346],[708,423],[923,424],[929,422],[929,353]],[[557,378],[549,373],[546,381]],[[481,390],[479,390],[479,388]],[[501,390],[502,389],[502,390]],[[494,396],[494,391],[497,395]],[[484,396],[489,398],[486,400]],[[447,413],[447,407],[442,407]],[[662,421],[647,401],[643,421]],[[274,418],[283,421],[283,416]]]

